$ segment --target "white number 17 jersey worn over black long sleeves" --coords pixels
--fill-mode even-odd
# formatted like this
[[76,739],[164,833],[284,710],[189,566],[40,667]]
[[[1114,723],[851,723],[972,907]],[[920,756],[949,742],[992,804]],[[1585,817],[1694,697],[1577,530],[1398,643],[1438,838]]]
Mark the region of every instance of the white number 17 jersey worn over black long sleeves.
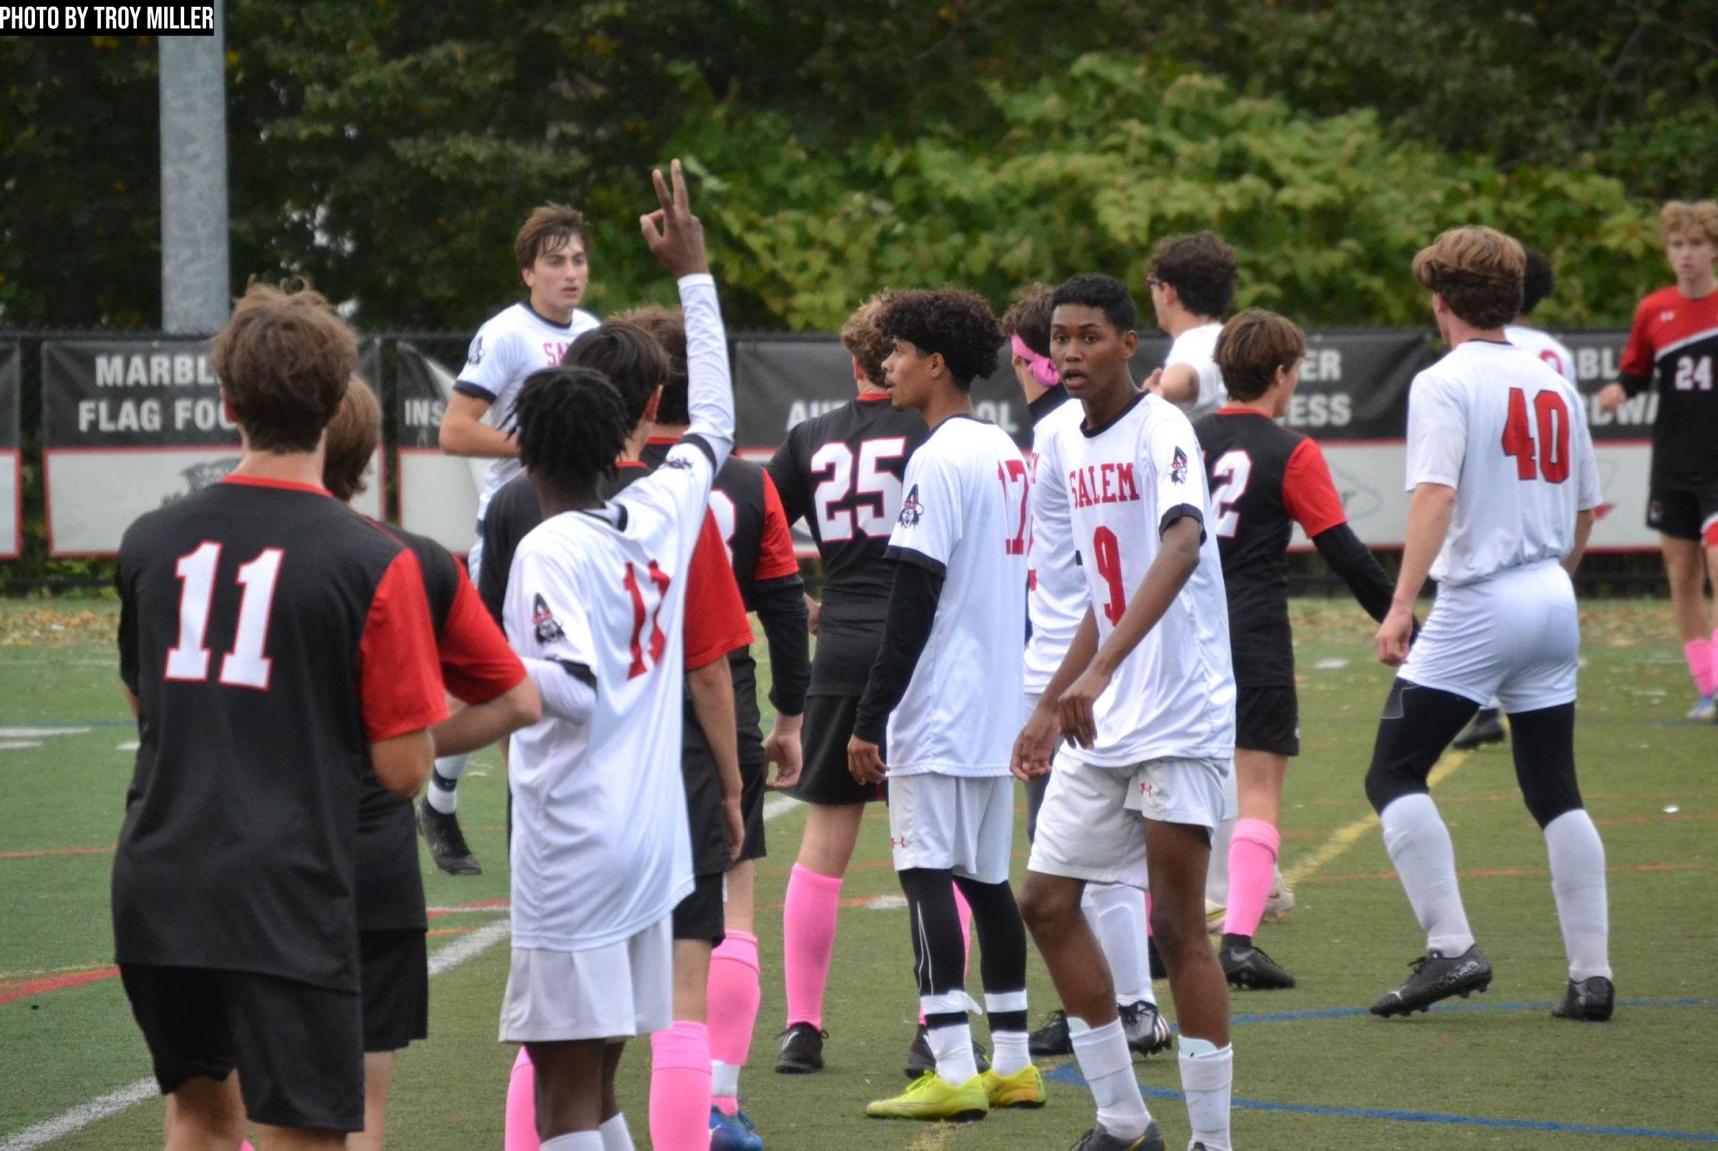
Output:
[[907,460],[888,557],[943,576],[931,637],[888,716],[890,775],[1007,775],[1024,716],[1026,460],[955,416]]

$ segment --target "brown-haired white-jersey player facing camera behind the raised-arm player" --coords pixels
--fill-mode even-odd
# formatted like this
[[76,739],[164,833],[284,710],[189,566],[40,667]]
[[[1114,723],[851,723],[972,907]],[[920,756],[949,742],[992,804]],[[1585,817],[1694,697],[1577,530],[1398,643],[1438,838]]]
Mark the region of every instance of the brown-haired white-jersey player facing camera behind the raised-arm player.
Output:
[[[490,496],[521,471],[519,443],[512,433],[519,387],[531,373],[558,364],[567,347],[596,326],[596,316],[579,309],[591,283],[582,215],[565,204],[536,208],[514,239],[514,258],[529,295],[478,328],[442,416],[443,452],[493,460],[478,493],[478,538],[466,557],[472,581],[483,570],[483,510]],[[459,780],[469,759],[438,758],[417,804],[417,826],[430,856],[448,874],[483,871],[466,845],[457,814]]]

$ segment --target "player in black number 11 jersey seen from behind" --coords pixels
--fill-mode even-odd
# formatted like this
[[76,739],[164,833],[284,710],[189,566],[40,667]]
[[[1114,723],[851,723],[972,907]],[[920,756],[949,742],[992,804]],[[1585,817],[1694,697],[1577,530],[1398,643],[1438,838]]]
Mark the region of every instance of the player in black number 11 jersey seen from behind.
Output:
[[350,330],[253,287],[211,362],[244,457],[120,545],[113,947],[177,1146],[254,1122],[338,1148],[364,1129],[354,814],[371,773],[423,787],[447,703],[416,555],[321,486]]

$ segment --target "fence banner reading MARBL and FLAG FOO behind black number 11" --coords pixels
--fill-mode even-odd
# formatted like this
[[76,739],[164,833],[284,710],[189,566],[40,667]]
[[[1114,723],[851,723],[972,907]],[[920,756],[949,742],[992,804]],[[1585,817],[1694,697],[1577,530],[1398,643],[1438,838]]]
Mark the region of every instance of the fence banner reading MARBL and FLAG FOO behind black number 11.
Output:
[[[50,555],[112,555],[148,510],[220,483],[239,464],[206,340],[48,340],[41,345],[43,493]],[[380,345],[359,347],[376,380]],[[381,469],[378,452],[376,469]],[[376,479],[354,500],[381,514]]]

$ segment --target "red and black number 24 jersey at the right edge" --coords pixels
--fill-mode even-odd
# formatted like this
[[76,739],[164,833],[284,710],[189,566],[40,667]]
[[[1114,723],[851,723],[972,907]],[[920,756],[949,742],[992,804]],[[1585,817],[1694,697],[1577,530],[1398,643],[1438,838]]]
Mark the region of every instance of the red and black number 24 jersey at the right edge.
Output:
[[1718,292],[1689,299],[1666,287],[1641,301],[1618,368],[1629,395],[1658,388],[1653,488],[1718,484]]

